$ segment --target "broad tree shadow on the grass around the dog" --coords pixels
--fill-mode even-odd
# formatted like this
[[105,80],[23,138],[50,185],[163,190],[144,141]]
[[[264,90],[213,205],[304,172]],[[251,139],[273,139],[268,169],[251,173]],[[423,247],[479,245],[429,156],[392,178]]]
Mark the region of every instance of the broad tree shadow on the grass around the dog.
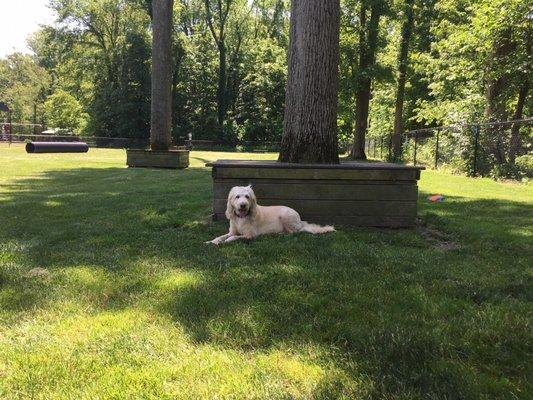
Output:
[[[147,304],[193,343],[315,346],[319,363],[333,362],[349,379],[367,377],[375,397],[503,394],[523,379],[527,324],[506,320],[530,300],[529,205],[460,198],[428,205],[422,193],[422,220],[463,244],[451,251],[416,231],[376,229],[214,247],[203,242],[226,224],[209,220],[208,170],[49,171],[2,189],[7,311],[45,307],[68,287],[97,309]],[[511,254],[513,265],[499,271]],[[24,278],[35,267],[64,275]],[[172,283],[187,273],[194,279]],[[472,389],[479,381],[469,371],[487,363],[495,366],[484,369],[486,379],[503,375],[508,383]],[[317,396],[343,390],[330,382]]]

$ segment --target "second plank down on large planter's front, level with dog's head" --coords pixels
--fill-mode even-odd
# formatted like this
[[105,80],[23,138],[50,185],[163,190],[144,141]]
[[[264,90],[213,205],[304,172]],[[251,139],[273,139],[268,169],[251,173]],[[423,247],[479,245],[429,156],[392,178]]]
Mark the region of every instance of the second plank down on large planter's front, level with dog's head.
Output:
[[[328,182],[328,181],[326,181]],[[333,181],[329,181],[333,182]],[[262,183],[252,182],[254,192],[261,201],[270,199],[318,199],[318,200],[413,200],[418,197],[417,186],[409,185],[337,185],[335,183]],[[213,185],[213,197],[226,199],[233,182],[217,181]]]

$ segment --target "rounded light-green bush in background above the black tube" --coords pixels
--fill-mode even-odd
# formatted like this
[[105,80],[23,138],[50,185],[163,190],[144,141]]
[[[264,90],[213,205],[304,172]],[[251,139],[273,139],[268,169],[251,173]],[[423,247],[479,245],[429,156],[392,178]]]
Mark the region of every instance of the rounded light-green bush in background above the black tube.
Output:
[[44,103],[45,116],[50,127],[78,131],[85,125],[86,115],[80,103],[69,93],[57,90]]

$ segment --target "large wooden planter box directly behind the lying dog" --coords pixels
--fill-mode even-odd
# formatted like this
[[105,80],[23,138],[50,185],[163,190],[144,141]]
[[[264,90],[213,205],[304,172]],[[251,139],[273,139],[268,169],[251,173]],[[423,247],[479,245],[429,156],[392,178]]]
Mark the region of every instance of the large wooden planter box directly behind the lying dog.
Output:
[[303,220],[344,226],[411,227],[420,171],[389,163],[287,164],[218,160],[213,167],[213,218],[225,219],[233,186],[252,184],[261,205],[285,205]]

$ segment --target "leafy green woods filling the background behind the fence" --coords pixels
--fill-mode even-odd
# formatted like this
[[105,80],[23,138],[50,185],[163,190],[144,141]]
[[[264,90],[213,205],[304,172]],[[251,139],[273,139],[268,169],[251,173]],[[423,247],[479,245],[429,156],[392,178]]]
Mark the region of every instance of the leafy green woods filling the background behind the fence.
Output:
[[[51,0],[57,21],[29,38],[34,55],[0,60],[0,97],[13,119],[61,125],[45,104],[68,95],[60,104],[78,118],[64,128],[148,138],[151,3]],[[530,116],[526,3],[340,1],[338,141],[352,158],[365,159],[365,139],[378,138],[391,143],[389,158],[401,161],[405,131]],[[291,2],[175,0],[173,14],[173,140],[191,133],[227,145],[280,142]],[[472,137],[441,140],[468,153]],[[484,128],[480,140],[480,170],[490,173],[529,151],[531,129]]]

